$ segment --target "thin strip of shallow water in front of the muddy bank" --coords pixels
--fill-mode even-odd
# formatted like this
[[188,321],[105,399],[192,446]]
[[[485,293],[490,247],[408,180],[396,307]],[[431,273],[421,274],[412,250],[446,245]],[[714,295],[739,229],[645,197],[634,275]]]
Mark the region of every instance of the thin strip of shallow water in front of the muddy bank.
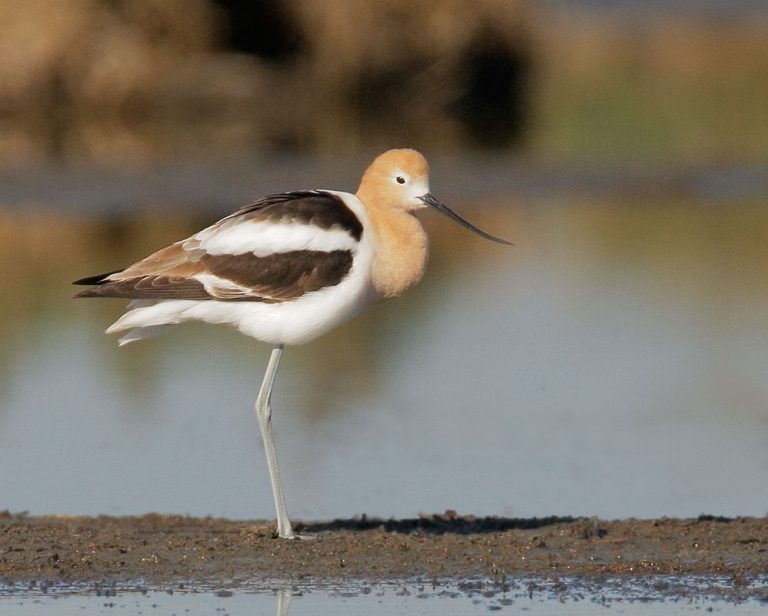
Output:
[[[762,582],[761,582],[762,583]],[[591,615],[660,614],[702,611],[752,616],[765,610],[764,598],[717,595],[729,586],[718,578],[659,577],[652,582],[606,578],[520,579],[499,587],[488,581],[401,582],[285,586],[259,582],[232,588],[133,590],[99,587],[24,590],[18,596],[0,587],[0,614],[484,614]],[[663,589],[663,590],[660,590]]]

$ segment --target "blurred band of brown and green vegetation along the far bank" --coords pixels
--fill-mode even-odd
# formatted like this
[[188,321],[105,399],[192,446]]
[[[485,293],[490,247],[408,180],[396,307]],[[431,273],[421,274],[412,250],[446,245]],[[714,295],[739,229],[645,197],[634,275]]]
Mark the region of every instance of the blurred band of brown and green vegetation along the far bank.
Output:
[[301,44],[275,61],[224,49],[213,0],[0,3],[0,165],[404,143],[547,158],[768,152],[765,23],[631,22],[526,0],[279,6]]

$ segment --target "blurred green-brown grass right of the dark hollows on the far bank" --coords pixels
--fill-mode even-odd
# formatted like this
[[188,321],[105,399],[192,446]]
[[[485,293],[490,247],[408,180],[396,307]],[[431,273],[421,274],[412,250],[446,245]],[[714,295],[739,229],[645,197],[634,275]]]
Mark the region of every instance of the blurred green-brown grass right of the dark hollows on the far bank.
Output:
[[765,162],[766,25],[591,15],[539,29],[534,151]]

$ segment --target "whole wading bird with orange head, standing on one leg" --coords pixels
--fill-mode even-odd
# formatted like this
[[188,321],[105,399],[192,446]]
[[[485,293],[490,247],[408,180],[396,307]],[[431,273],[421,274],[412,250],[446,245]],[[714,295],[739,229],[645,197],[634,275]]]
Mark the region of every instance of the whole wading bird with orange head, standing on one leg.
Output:
[[130,299],[107,333],[121,345],[183,321],[234,325],[273,345],[256,398],[277,533],[295,538],[272,439],[270,399],[283,347],[302,344],[371,304],[402,295],[424,274],[427,234],[413,215],[431,207],[484,238],[429,192],[415,150],[389,150],[356,194],[302,190],[270,195],[122,270],[89,276],[75,297]]

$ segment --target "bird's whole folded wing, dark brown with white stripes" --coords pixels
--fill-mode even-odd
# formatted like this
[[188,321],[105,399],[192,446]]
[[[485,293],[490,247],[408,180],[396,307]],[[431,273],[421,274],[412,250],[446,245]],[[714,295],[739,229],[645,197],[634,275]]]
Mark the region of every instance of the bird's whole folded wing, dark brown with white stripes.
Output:
[[95,285],[77,297],[286,302],[339,284],[362,235],[338,193],[270,195],[124,270],[76,281]]

